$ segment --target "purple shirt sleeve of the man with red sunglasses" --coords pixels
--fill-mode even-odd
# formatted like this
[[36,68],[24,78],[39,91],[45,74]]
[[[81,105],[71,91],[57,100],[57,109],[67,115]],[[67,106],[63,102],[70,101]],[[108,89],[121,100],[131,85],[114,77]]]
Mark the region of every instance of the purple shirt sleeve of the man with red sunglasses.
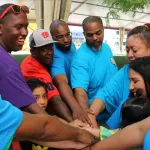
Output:
[[1,95],[15,107],[21,108],[36,102],[19,69],[8,72],[0,83]]

